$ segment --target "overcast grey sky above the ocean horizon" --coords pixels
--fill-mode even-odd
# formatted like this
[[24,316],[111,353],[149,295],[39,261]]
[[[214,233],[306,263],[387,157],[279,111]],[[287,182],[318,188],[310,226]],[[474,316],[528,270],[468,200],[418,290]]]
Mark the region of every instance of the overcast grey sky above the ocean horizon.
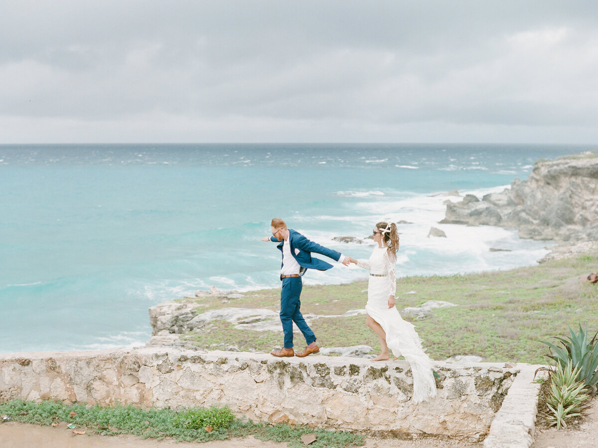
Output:
[[598,143],[598,2],[0,11],[0,143]]

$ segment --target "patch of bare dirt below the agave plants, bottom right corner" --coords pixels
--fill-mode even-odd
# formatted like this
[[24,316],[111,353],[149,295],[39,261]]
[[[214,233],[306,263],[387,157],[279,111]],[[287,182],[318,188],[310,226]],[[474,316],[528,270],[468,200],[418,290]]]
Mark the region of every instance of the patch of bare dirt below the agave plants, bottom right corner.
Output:
[[536,428],[532,448],[594,448],[598,446],[598,399],[594,398],[581,425],[572,429]]

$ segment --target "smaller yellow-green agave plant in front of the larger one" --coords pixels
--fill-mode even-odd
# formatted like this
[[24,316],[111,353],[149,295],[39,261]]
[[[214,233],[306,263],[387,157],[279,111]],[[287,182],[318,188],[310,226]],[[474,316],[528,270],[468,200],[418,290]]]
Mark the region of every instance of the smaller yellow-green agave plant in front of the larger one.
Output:
[[548,412],[543,413],[548,425],[560,429],[569,419],[581,416],[588,395],[584,393],[584,382],[577,381],[578,376],[579,368],[573,367],[572,361],[564,367],[557,363],[556,370],[551,371],[550,390],[544,397]]

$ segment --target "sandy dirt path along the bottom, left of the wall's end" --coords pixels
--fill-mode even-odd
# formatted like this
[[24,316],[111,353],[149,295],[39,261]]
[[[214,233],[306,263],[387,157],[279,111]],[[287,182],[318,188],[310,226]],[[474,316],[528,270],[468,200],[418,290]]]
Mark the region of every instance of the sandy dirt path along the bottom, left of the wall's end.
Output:
[[[206,443],[177,442],[172,439],[144,440],[133,435],[76,435],[72,429],[63,426],[38,426],[19,422],[0,424],[0,446],[2,448],[286,448],[286,443],[261,441],[253,436]],[[481,444],[463,441],[398,440],[367,438],[365,448],[481,448]]]

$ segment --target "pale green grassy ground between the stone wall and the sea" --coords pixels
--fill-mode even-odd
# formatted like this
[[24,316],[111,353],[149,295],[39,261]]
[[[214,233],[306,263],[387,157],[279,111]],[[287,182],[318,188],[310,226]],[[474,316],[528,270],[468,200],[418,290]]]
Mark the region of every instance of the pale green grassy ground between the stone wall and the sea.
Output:
[[[428,300],[446,300],[459,306],[435,309],[430,317],[410,320],[433,359],[454,355],[479,355],[484,361],[514,361],[544,364],[546,340],[565,334],[567,324],[582,320],[598,327],[598,287],[580,280],[596,272],[598,253],[554,260],[539,266],[510,271],[432,277],[404,277],[397,281],[396,306],[419,306]],[[301,311],[304,314],[338,315],[364,308],[367,282],[304,286]],[[405,294],[414,291],[413,294]],[[221,303],[206,303],[197,309],[225,306],[278,309],[280,290],[261,290]],[[209,300],[209,299],[206,299]],[[312,321],[320,346],[367,344],[380,349],[376,335],[365,326],[364,316],[321,318]],[[209,332],[190,333],[186,338],[203,348],[224,348],[237,344],[240,350],[269,352],[282,343],[280,332],[236,330],[215,322]],[[295,345],[304,341],[295,337]]]

